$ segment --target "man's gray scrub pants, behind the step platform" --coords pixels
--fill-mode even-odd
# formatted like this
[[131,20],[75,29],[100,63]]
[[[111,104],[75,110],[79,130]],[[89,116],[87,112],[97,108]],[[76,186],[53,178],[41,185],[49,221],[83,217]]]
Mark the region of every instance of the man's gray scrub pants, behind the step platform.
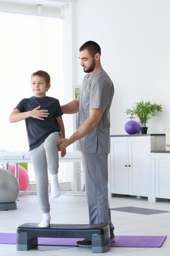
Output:
[[90,224],[109,224],[110,236],[114,237],[114,226],[108,203],[108,154],[82,152],[85,190]]

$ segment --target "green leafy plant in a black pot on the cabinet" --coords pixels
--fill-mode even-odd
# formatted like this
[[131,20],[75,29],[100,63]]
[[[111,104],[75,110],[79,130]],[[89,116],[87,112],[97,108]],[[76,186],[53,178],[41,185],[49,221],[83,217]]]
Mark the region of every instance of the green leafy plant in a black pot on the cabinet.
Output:
[[141,133],[146,134],[148,127],[146,127],[146,124],[148,123],[148,119],[152,118],[153,116],[156,116],[158,112],[162,112],[162,106],[157,104],[151,104],[150,101],[144,102],[141,100],[141,102],[135,103],[135,107],[132,107],[132,109],[127,109],[125,111],[126,115],[130,115],[128,118],[135,119],[136,117],[139,118],[139,121],[141,123]]

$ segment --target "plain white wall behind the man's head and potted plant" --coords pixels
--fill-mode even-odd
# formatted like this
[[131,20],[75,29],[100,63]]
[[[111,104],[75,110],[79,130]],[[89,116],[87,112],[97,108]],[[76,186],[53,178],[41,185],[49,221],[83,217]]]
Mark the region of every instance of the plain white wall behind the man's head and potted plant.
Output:
[[114,83],[110,134],[126,134],[125,110],[143,99],[162,104],[148,133],[170,127],[170,1],[77,0],[77,84],[85,75],[79,47],[96,41],[101,63]]

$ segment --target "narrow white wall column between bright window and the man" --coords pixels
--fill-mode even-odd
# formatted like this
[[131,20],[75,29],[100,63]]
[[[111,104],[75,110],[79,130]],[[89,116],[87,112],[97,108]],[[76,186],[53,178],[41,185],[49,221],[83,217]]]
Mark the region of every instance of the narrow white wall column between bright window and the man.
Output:
[[[62,6],[62,33],[63,33],[63,93],[64,101],[61,105],[73,100],[73,85],[75,81],[75,21],[76,3],[68,3]],[[66,138],[73,134],[73,115],[63,115]],[[73,151],[73,144],[68,146],[67,152]],[[71,190],[74,190],[74,164],[63,163],[63,181],[71,182]]]

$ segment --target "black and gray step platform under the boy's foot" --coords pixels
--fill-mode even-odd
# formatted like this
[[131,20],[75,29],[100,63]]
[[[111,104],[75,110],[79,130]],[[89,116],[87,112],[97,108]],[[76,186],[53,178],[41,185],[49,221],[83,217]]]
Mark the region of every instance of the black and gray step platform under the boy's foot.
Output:
[[50,224],[48,228],[39,228],[38,223],[25,223],[17,228],[17,250],[34,248],[38,237],[87,238],[92,241],[93,253],[105,253],[111,247],[109,225]]

